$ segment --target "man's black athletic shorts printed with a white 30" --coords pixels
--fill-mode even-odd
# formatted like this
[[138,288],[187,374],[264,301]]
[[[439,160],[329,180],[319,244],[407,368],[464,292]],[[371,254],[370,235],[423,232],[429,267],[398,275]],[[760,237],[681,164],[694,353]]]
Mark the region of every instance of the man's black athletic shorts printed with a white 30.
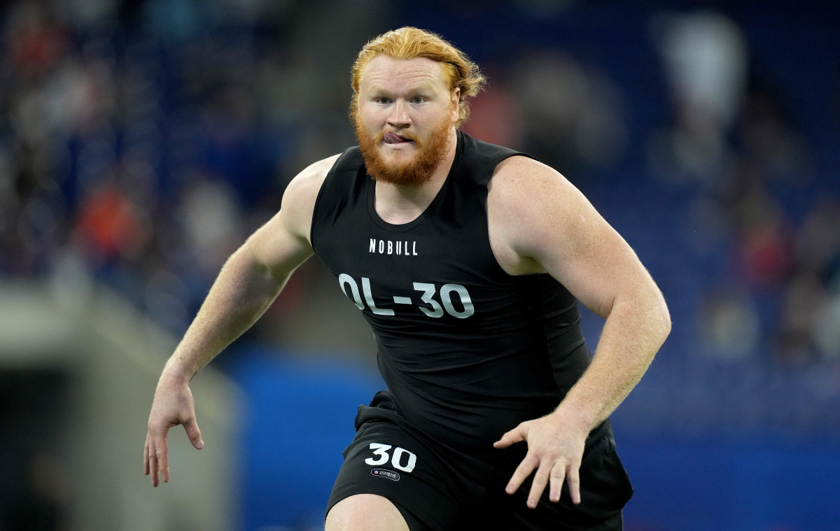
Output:
[[396,411],[388,392],[377,393],[370,406],[359,408],[355,428],[328,512],[346,497],[369,493],[391,500],[412,531],[620,531],[622,507],[633,495],[608,420],[586,442],[580,505],[570,501],[564,485],[559,502],[549,501],[547,487],[535,509],[525,504],[530,477],[516,493],[505,492],[526,444],[497,450],[497,458],[476,459],[418,432]]

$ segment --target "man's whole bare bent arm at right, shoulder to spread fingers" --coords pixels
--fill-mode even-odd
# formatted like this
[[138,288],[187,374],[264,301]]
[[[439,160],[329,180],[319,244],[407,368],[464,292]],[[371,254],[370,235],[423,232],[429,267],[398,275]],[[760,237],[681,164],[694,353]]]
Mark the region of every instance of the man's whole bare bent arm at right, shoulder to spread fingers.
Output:
[[[512,275],[548,272],[587,308],[606,318],[595,358],[554,413],[536,425],[520,425],[497,446],[528,440],[529,457],[517,469],[518,484],[538,468],[534,488],[542,492],[549,473],[551,498],[559,498],[563,477],[580,501],[577,468],[585,436],[627,397],[647,370],[670,331],[662,293],[638,257],[591,203],[558,172],[534,160],[512,157],[496,170],[487,199],[491,245],[502,268]],[[543,420],[543,419],[540,419]],[[529,428],[535,433],[528,434]],[[536,428],[541,431],[536,433]],[[577,434],[553,470],[542,455],[558,432]],[[543,440],[544,439],[544,440]],[[555,479],[559,485],[554,486]],[[542,486],[538,486],[542,483]],[[514,489],[515,490],[515,489]],[[535,502],[535,501],[534,501]]]

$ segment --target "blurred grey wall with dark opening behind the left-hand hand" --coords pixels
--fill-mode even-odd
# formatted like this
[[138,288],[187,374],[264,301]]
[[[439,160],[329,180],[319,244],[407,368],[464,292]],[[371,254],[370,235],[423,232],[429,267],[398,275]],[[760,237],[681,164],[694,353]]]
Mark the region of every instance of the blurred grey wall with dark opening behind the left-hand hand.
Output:
[[107,292],[71,298],[0,285],[0,516],[55,513],[71,530],[234,528],[236,387],[202,373],[192,389],[206,447],[173,429],[171,481],[152,488],[146,420],[174,341]]

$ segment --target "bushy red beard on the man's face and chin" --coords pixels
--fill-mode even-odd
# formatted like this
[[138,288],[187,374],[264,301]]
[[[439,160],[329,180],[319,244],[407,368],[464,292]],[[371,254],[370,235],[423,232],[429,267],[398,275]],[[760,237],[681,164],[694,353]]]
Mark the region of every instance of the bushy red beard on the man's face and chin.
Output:
[[375,137],[361,123],[358,110],[352,113],[355,125],[356,139],[359,140],[359,147],[365,157],[365,166],[368,174],[376,181],[390,182],[400,186],[417,187],[428,182],[438,169],[440,163],[446,157],[449,144],[449,133],[452,130],[453,122],[444,117],[440,124],[435,126],[428,137],[412,141],[417,145],[417,153],[411,160],[400,164],[387,162],[379,151],[379,146],[385,138],[385,131],[381,131]]

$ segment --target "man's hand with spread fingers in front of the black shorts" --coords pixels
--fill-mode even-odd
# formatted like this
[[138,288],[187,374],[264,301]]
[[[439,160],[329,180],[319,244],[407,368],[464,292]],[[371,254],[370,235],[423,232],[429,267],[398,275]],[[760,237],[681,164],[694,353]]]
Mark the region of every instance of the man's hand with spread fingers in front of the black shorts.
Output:
[[572,502],[580,503],[579,470],[588,431],[575,428],[575,423],[565,422],[559,415],[554,412],[520,423],[493,443],[496,448],[507,448],[522,441],[528,443],[528,454],[513,472],[505,492],[517,492],[522,481],[537,469],[528,494],[528,507],[532,509],[537,507],[539,497],[549,483],[549,499],[558,502],[564,481],[569,486]]

